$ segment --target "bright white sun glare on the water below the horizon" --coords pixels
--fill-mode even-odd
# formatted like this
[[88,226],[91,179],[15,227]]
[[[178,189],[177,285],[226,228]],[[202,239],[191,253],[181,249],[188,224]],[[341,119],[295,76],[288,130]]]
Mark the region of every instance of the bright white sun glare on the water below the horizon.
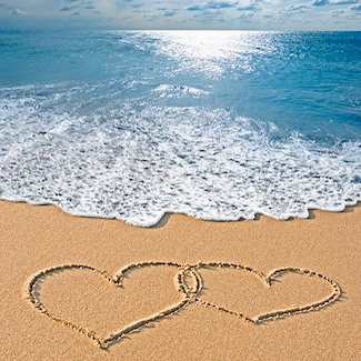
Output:
[[141,31],[151,38],[156,52],[181,63],[183,70],[201,70],[219,77],[225,69],[254,70],[252,57],[273,51],[270,37],[250,31]]

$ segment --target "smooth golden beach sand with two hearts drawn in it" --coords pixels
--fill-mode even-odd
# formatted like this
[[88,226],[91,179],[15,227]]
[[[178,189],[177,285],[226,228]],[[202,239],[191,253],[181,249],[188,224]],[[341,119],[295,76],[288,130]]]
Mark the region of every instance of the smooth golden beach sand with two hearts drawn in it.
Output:
[[[0,202],[0,360],[361,360],[361,208],[312,215],[229,223],[174,214],[162,228],[141,229]],[[239,268],[140,267],[118,287],[120,269],[147,261]],[[60,264],[96,271],[31,278]],[[288,267],[298,272],[267,279]],[[185,291],[195,290],[199,274],[197,294],[178,290],[182,274]],[[320,302],[325,307],[255,324],[260,314]],[[110,340],[154,315],[106,350],[78,332]]]

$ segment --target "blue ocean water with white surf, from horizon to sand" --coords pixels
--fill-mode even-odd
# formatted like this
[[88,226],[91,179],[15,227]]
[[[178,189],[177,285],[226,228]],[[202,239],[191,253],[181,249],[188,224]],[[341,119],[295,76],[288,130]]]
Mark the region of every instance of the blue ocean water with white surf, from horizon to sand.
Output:
[[0,32],[0,199],[148,227],[361,200],[361,33]]

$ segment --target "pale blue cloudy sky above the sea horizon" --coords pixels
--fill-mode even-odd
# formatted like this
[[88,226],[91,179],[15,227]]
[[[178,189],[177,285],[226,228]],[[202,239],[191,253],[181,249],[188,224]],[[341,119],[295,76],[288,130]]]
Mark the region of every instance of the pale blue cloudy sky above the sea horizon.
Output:
[[0,30],[361,30],[361,0],[0,0]]

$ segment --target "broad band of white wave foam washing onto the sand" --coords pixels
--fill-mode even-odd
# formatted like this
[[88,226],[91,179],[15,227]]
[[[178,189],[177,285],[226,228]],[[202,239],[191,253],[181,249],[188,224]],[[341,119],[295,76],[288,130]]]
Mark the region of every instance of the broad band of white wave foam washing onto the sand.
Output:
[[124,104],[74,117],[47,111],[51,101],[1,102],[1,199],[143,227],[164,212],[305,218],[310,208],[340,211],[361,200],[360,142],[277,140],[274,124],[221,109]]

